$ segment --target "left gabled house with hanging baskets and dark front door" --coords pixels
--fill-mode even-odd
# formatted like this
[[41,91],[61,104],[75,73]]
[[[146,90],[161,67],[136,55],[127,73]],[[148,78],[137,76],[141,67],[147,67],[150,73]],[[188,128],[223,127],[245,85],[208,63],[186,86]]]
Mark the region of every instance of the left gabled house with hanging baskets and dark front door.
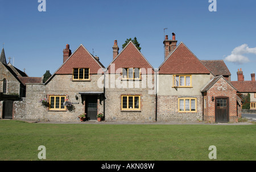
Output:
[[[105,67],[98,57],[80,45],[73,53],[69,45],[63,50],[63,64],[45,83],[27,83],[26,112],[16,108],[15,118],[40,121],[76,121],[86,113],[89,120],[104,112],[104,88],[98,80]],[[46,107],[40,100],[47,100]],[[65,106],[69,102],[72,106]],[[24,106],[17,104],[17,107]]]

